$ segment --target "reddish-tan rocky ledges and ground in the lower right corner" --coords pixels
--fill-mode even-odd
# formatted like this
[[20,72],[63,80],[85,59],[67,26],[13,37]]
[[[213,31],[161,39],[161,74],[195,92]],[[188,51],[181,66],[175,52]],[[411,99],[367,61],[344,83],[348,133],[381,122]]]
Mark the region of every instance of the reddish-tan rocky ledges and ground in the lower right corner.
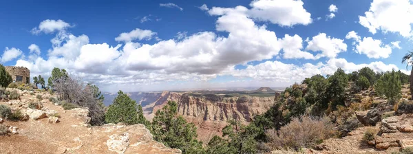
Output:
[[[402,89],[403,98],[407,100],[407,86]],[[363,100],[372,99],[377,104],[366,111],[356,111],[359,121],[366,125],[351,131],[348,136],[330,138],[317,146],[317,150],[309,150],[307,153],[395,153],[404,148],[413,148],[413,115],[394,115],[394,106],[388,104],[383,98],[377,98],[364,91],[359,96]],[[370,115],[368,115],[370,114]],[[375,124],[375,126],[371,126]],[[363,141],[364,133],[374,131],[374,140]]]

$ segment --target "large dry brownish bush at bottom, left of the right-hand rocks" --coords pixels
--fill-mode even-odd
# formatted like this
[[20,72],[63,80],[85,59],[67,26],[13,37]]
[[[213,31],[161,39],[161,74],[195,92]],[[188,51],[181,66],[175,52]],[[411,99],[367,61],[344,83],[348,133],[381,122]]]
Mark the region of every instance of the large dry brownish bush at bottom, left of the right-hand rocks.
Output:
[[[279,131],[268,131],[271,144],[275,148],[313,148],[323,140],[334,135],[332,124],[326,118],[315,118],[301,115],[293,118],[289,124]],[[277,135],[278,133],[278,135]]]

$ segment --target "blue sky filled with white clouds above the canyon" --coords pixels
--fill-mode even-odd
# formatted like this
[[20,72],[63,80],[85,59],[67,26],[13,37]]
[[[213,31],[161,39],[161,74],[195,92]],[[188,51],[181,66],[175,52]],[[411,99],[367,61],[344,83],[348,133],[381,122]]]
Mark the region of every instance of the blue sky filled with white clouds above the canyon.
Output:
[[111,92],[286,87],[410,74],[412,23],[410,0],[0,1],[0,63]]

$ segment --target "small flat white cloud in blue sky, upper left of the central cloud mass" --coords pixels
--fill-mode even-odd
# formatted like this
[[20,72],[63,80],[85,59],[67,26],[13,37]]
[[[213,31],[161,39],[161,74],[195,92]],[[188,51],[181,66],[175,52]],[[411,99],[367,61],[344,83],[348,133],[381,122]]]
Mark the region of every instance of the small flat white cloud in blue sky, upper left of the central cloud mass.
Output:
[[115,41],[130,42],[136,39],[138,39],[139,41],[143,39],[150,40],[154,35],[156,35],[156,32],[152,32],[151,30],[140,30],[139,28],[136,28],[131,32],[123,32],[122,34],[119,34],[119,36],[115,38]]

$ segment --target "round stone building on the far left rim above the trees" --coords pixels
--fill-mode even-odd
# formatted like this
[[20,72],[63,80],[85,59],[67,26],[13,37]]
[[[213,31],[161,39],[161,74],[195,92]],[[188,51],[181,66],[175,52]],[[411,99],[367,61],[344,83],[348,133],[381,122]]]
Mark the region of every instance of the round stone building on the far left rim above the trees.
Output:
[[30,83],[30,70],[26,67],[6,66],[14,82]]

